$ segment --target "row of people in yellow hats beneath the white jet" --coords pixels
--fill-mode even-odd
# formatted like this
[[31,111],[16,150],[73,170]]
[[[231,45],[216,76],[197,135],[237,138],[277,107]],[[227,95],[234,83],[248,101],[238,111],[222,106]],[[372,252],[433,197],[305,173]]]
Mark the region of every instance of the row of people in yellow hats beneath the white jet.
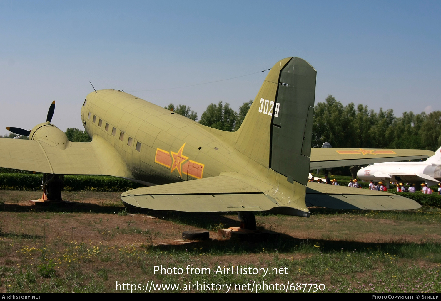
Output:
[[[314,179],[313,176],[311,176],[311,178],[308,180],[308,182],[315,182],[315,183],[322,183],[322,184],[331,184],[331,185],[339,185],[336,179],[330,180],[328,178],[328,175],[325,175],[325,180],[323,180],[321,178],[318,178],[318,180],[316,180],[316,179]],[[409,185],[409,187],[404,186],[403,183],[392,183],[392,182],[390,182],[389,184],[395,185],[397,192],[410,192],[410,193],[415,193],[416,192],[415,184],[407,183],[406,185]],[[361,185],[358,184],[357,179],[350,179],[348,187],[362,188]],[[375,182],[375,183],[374,183],[374,181],[370,181],[369,189],[370,190],[377,190],[377,191],[388,191],[387,184],[383,183],[381,181],[380,182]],[[431,194],[434,193],[434,191],[430,187],[428,187],[426,183],[421,184],[421,191],[422,191],[422,193],[428,194],[428,195],[431,195]],[[438,183],[438,195],[441,195],[441,183]]]

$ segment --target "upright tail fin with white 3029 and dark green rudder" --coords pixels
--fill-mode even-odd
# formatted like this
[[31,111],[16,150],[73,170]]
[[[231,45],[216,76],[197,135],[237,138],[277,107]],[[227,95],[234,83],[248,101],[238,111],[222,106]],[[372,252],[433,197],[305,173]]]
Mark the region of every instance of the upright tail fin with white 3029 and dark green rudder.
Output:
[[317,72],[296,57],[268,73],[241,127],[235,148],[255,162],[306,185]]

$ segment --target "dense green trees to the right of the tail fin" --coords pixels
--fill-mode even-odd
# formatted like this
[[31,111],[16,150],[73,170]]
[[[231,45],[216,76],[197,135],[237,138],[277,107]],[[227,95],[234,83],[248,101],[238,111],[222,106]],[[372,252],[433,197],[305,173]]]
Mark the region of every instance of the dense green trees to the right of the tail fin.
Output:
[[312,147],[402,148],[436,151],[441,146],[441,111],[430,114],[378,112],[363,104],[343,106],[332,95],[314,106]]

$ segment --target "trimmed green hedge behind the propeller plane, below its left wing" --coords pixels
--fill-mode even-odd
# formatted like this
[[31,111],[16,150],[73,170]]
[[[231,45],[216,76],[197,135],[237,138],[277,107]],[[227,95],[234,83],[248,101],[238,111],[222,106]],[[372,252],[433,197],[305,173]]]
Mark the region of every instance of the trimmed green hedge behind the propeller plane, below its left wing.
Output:
[[[41,190],[41,174],[0,173],[0,189]],[[64,191],[127,191],[142,184],[113,176],[64,176]]]

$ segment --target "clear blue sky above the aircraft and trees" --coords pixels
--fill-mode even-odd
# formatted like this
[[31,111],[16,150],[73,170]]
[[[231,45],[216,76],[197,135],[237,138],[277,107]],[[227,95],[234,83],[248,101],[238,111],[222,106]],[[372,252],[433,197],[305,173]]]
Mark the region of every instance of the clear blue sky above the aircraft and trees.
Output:
[[[370,109],[441,110],[439,1],[2,1],[0,134],[45,121],[82,129],[80,107],[114,88],[160,106],[254,99],[266,73],[299,56],[332,94]],[[149,90],[149,91],[148,91]],[[154,91],[152,91],[154,90]]]

